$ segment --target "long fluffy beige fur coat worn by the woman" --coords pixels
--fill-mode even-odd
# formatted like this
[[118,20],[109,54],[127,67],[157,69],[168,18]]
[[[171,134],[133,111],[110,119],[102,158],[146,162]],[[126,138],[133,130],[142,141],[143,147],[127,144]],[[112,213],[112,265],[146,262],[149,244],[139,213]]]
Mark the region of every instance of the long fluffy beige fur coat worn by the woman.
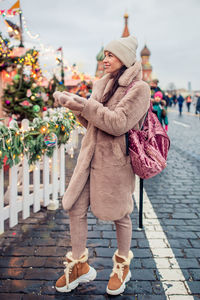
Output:
[[[96,81],[93,92],[79,112],[87,128],[63,208],[69,210],[90,180],[90,206],[101,220],[119,220],[133,210],[135,175],[126,155],[125,133],[139,129],[150,105],[150,89],[141,80],[141,63],[136,62],[119,78],[119,88],[103,106],[103,95],[112,86],[110,74]],[[136,81],[128,91],[128,85]]]

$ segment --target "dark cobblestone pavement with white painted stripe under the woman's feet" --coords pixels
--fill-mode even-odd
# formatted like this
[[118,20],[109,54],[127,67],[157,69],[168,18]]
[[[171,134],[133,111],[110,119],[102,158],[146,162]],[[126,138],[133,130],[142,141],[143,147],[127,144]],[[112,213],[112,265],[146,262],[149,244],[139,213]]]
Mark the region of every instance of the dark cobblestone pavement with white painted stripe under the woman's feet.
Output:
[[[111,222],[88,214],[89,262],[97,269],[94,282],[70,294],[55,291],[70,249],[69,220],[59,209],[20,221],[0,237],[0,299],[200,299],[200,120],[169,113],[171,149],[168,167],[145,181],[144,230],[138,229],[138,204],[132,217],[132,278],[123,295],[105,293],[112,269],[116,236]],[[69,181],[74,159],[66,161]]]

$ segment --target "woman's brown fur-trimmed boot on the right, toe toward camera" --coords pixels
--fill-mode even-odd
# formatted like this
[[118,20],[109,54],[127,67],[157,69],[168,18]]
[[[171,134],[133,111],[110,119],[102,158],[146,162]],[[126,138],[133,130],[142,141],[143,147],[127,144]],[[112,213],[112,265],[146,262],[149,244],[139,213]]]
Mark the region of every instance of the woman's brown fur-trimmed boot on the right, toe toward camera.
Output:
[[132,251],[129,251],[128,258],[118,254],[118,250],[113,255],[113,270],[110,274],[110,280],[107,285],[106,292],[109,295],[119,295],[124,292],[126,282],[131,278],[131,271],[129,265],[133,258]]

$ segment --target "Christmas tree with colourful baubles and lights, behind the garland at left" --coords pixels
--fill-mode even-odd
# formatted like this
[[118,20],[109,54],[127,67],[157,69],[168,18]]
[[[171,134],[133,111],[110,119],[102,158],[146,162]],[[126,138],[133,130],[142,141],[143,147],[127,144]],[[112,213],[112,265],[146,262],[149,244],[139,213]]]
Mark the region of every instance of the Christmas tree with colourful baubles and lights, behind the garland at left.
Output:
[[29,50],[23,57],[16,58],[17,73],[3,93],[4,110],[18,121],[38,117],[44,107],[44,89],[39,85],[41,70],[38,52]]

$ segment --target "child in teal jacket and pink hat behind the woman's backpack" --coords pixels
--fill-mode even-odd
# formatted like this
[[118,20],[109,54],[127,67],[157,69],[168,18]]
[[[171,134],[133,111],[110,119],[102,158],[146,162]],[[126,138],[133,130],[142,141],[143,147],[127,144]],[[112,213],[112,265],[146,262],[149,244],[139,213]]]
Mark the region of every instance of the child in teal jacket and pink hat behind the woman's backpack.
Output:
[[161,92],[156,92],[154,94],[154,99],[152,99],[153,112],[157,115],[158,120],[161,125],[168,131],[168,117],[166,110],[166,102],[163,100],[163,94]]

